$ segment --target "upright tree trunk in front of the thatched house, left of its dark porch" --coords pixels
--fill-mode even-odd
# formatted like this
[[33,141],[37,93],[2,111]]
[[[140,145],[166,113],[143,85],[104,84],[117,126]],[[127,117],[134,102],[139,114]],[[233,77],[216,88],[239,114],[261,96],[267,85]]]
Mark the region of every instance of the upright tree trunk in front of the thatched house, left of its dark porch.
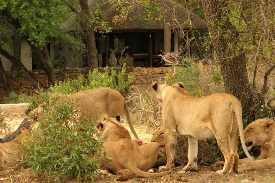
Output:
[[97,48],[95,43],[95,36],[94,36],[94,27],[89,24],[90,21],[90,9],[88,6],[87,0],[79,0],[81,11],[83,13],[83,28],[84,28],[84,37],[87,43],[87,59],[88,59],[88,66],[90,69],[95,69],[98,67],[98,59],[97,59]]

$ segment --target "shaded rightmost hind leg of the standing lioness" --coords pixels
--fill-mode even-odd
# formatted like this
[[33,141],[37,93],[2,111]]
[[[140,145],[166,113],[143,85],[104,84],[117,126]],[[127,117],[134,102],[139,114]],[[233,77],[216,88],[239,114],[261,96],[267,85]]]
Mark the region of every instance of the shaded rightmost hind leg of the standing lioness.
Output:
[[230,134],[230,144],[234,154],[231,173],[235,173],[235,174],[239,173],[238,139],[239,139],[239,129],[236,122],[236,123],[233,123],[233,128]]

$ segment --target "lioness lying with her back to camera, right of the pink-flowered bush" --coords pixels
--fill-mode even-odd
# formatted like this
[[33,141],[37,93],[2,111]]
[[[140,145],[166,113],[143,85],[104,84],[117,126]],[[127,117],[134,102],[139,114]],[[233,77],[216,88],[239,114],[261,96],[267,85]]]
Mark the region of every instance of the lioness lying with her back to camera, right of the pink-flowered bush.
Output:
[[[129,169],[136,176],[162,176],[168,172],[147,173],[153,167],[158,157],[156,142],[138,145],[131,140],[129,132],[121,124],[121,117],[109,118],[97,126],[97,134],[102,136],[103,149],[101,151],[101,165],[107,170],[117,173],[119,170]],[[105,155],[106,156],[105,156]],[[111,161],[106,161],[106,158]]]

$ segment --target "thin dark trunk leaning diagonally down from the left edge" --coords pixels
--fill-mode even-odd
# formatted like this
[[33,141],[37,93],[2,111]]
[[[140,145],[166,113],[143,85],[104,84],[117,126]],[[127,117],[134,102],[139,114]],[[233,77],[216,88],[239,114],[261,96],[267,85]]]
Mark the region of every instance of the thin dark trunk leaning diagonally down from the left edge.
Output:
[[46,89],[46,87],[43,86],[43,84],[41,84],[37,79],[35,79],[35,77],[26,69],[26,67],[22,64],[22,62],[20,60],[17,60],[13,56],[11,56],[7,51],[3,50],[1,47],[0,47],[0,53],[4,57],[6,57],[7,59],[9,59],[12,62],[12,64],[14,64],[18,68],[20,68],[20,70],[29,78],[29,80],[33,84],[35,84],[35,86],[37,86],[39,88]]

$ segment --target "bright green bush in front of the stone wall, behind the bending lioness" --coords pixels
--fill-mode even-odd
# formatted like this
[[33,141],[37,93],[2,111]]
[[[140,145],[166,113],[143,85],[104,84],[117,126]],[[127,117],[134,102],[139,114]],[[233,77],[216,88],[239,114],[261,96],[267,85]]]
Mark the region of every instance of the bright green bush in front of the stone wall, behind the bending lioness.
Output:
[[[125,79],[126,77],[127,79]],[[124,64],[121,72],[116,73],[116,70],[110,70],[108,67],[105,67],[104,73],[100,73],[98,69],[94,69],[93,72],[87,74],[87,78],[83,75],[79,75],[77,79],[72,81],[67,79],[56,82],[55,86],[50,88],[50,91],[52,93],[68,95],[91,88],[109,87],[119,92],[124,92],[127,86],[133,81],[133,76],[127,76],[126,66]]]

